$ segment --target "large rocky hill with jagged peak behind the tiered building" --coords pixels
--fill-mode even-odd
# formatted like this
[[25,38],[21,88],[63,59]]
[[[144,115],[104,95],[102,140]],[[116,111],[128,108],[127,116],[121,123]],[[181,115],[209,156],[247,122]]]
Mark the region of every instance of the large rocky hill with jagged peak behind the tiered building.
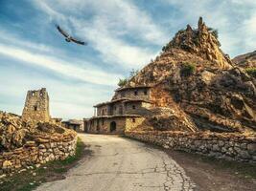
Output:
[[163,52],[128,81],[127,87],[151,86],[155,106],[172,110],[171,115],[152,113],[149,122],[156,118],[153,123],[158,119],[161,124],[161,118],[170,118],[167,128],[256,131],[256,79],[233,64],[220,46],[199,18],[198,29],[188,25],[177,32]]

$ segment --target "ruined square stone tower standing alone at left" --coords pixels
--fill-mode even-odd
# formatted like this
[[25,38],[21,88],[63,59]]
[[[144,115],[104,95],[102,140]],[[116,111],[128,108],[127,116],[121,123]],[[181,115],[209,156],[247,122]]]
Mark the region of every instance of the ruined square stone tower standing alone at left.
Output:
[[22,113],[23,120],[49,121],[49,96],[45,88],[28,91]]

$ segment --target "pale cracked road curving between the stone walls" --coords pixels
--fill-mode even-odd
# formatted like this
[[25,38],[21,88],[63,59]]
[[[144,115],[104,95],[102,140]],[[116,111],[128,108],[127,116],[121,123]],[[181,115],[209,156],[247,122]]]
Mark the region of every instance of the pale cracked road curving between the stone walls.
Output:
[[64,180],[47,182],[37,191],[180,191],[196,186],[165,152],[117,136],[80,135],[92,154]]

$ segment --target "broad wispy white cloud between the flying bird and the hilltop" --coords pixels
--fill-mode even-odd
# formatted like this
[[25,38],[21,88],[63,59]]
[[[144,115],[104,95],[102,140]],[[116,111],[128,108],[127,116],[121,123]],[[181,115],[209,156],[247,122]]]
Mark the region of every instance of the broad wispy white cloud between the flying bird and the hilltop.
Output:
[[[76,34],[87,39],[91,47],[101,53],[102,59],[124,68],[140,68],[157,53],[136,43],[130,45],[125,40],[127,35],[144,39],[150,44],[162,45],[167,40],[164,30],[155,25],[145,11],[139,10],[130,1],[75,0],[72,4],[65,0],[58,1],[58,4],[43,2],[46,6],[39,8],[49,14],[50,18],[65,17],[61,24],[71,23]],[[92,18],[82,18],[81,13],[86,14],[84,10],[92,12]],[[69,14],[65,16],[65,12]]]

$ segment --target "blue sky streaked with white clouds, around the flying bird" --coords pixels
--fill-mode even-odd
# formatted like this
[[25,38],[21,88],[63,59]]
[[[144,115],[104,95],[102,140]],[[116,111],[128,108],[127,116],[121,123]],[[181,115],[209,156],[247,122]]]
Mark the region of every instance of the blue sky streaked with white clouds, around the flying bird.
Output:
[[[91,117],[199,16],[224,53],[256,50],[255,0],[0,0],[0,110],[21,115],[27,91],[45,87],[52,117]],[[65,42],[56,24],[88,46]]]

